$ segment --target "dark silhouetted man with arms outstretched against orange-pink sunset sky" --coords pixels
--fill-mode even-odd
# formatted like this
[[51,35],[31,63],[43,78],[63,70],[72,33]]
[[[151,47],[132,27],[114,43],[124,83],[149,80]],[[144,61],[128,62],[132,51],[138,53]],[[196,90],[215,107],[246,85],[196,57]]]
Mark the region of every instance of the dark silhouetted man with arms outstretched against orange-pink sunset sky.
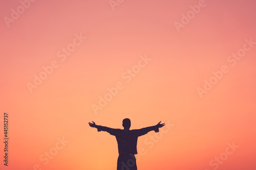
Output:
[[123,119],[123,129],[112,129],[104,126],[96,125],[94,122],[89,125],[92,128],[97,128],[98,132],[105,131],[111,135],[116,136],[118,144],[118,159],[117,170],[137,170],[136,158],[137,154],[137,140],[139,136],[142,136],[150,131],[159,132],[159,128],[162,128],[165,124],[160,124],[142,129],[130,130],[131,120],[129,118]]

